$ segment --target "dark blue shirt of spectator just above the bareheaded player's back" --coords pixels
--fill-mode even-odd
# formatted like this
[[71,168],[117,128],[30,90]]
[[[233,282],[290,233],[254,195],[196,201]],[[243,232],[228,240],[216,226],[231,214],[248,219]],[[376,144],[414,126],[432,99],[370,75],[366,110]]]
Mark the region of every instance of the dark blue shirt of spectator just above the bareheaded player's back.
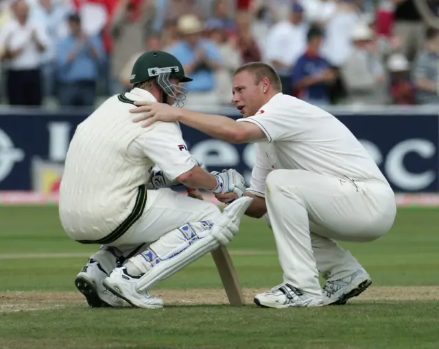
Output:
[[[298,83],[304,77],[319,75],[329,68],[329,62],[318,55],[305,53],[301,55],[294,65],[292,83]],[[330,101],[327,83],[316,83],[307,88],[296,91],[296,96],[303,101],[328,104]]]

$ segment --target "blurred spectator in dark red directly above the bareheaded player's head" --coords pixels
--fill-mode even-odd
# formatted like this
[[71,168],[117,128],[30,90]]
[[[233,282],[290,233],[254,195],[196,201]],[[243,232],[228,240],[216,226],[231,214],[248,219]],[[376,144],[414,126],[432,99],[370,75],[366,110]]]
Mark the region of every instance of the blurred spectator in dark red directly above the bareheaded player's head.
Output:
[[238,12],[236,16],[236,44],[235,47],[241,53],[241,60],[244,63],[259,62],[261,50],[254,40],[251,31],[251,15],[248,12]]

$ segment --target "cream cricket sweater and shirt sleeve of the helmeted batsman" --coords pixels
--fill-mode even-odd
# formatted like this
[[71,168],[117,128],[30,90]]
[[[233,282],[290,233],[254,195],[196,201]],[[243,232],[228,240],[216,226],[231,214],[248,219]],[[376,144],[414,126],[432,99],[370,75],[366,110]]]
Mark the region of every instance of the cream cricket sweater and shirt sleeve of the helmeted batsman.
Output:
[[145,209],[152,166],[169,179],[195,166],[178,122],[145,129],[132,122],[132,103],[142,100],[156,101],[138,88],[110,97],[73,135],[59,198],[62,227],[73,240],[108,244],[123,235]]

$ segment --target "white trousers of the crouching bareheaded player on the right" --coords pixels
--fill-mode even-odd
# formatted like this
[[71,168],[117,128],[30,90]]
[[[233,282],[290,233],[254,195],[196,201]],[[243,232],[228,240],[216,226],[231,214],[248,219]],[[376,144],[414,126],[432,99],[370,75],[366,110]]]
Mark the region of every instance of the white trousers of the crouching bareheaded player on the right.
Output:
[[265,203],[283,281],[313,296],[322,296],[319,271],[327,279],[339,279],[360,267],[334,240],[375,240],[390,230],[396,216],[394,192],[387,183],[305,170],[270,172]]

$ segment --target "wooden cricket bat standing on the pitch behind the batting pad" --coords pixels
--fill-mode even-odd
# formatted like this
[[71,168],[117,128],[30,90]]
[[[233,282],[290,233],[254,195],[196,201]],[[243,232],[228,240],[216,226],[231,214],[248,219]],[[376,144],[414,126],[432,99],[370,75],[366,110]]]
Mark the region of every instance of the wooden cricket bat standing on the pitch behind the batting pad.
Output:
[[[193,188],[187,188],[187,195],[191,198],[203,200],[200,192]],[[245,305],[244,294],[242,294],[238,274],[235,270],[235,266],[233,266],[233,261],[226,246],[219,246],[219,248],[211,252],[211,255],[217,266],[219,277],[221,278],[224,289],[226,290],[230,305],[234,307]]]

